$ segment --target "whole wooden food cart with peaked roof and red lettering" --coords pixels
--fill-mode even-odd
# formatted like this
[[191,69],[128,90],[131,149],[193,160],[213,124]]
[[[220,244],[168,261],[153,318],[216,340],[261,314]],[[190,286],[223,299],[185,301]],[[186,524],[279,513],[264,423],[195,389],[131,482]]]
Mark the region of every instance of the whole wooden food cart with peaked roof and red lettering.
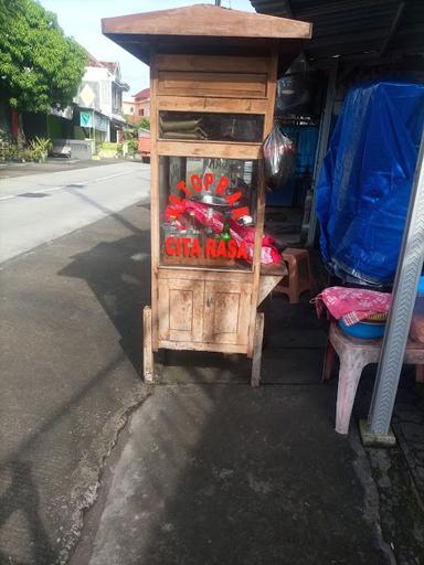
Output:
[[284,264],[269,264],[263,245],[262,143],[273,125],[277,75],[311,25],[209,4],[102,25],[150,65],[145,380],[153,381],[153,351],[198,350],[253,358],[257,386],[264,328],[257,308],[286,274]]

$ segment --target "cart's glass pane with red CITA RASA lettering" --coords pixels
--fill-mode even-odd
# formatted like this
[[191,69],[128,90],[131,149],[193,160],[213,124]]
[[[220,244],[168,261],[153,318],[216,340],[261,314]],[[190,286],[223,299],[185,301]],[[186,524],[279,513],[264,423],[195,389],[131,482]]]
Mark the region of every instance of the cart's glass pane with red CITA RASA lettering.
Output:
[[160,265],[252,270],[258,161],[159,158]]

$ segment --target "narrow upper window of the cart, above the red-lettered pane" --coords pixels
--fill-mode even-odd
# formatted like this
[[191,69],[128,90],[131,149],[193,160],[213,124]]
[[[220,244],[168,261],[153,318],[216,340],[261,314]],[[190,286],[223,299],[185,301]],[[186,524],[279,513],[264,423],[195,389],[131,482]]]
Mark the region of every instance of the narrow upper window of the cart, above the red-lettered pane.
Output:
[[160,139],[261,143],[264,116],[204,111],[160,111]]

